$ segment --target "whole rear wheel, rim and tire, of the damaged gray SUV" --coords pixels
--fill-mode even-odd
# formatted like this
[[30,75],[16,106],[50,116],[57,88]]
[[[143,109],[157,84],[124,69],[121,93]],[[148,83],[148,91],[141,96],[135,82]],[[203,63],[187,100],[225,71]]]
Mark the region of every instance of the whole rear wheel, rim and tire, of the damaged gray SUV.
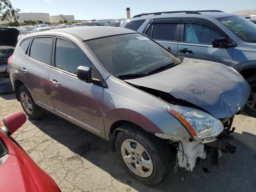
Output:
[[19,99],[24,112],[29,118],[38,119],[43,116],[44,110],[35,104],[30,92],[24,85],[19,88]]

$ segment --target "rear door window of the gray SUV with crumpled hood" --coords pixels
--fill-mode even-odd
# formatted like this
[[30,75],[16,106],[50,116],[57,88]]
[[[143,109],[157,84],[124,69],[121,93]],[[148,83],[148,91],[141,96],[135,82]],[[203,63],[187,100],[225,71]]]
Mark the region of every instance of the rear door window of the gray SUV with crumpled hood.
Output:
[[51,44],[52,38],[34,38],[30,47],[30,57],[45,64],[50,64]]

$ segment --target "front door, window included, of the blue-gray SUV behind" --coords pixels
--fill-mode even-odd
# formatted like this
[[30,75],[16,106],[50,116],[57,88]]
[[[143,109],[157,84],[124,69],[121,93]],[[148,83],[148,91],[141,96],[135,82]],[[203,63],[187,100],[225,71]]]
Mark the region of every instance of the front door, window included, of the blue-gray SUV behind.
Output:
[[[221,37],[230,39],[225,32],[210,21],[198,18],[182,18],[178,55],[230,66],[232,63],[232,47],[212,47],[212,40]],[[230,43],[232,43],[231,39]]]

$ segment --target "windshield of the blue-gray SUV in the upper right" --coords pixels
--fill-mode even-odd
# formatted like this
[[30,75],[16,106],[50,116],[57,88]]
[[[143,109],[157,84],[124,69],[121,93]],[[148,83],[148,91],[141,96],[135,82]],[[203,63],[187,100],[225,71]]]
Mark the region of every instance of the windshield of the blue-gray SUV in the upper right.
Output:
[[222,24],[229,28],[240,39],[256,43],[256,25],[240,16],[218,18]]

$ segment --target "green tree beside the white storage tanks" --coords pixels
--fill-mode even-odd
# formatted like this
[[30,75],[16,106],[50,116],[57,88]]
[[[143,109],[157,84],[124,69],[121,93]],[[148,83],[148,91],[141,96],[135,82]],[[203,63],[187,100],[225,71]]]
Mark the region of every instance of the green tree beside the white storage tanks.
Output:
[[10,0],[0,0],[0,15],[1,20],[8,20],[8,22],[12,23],[12,19],[16,26],[19,26],[19,22],[17,19],[17,13],[20,12],[20,9],[15,9],[12,7],[12,3]]

